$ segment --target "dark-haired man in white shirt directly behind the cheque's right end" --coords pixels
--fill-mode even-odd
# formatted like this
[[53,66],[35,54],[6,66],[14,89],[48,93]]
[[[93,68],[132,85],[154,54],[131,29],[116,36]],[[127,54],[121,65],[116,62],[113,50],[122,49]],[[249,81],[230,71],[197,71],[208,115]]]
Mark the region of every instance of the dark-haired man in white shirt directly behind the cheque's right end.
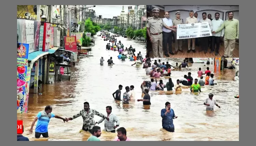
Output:
[[[212,21],[207,18],[207,14],[205,12],[202,13],[202,17],[203,19],[200,20],[200,23],[208,22],[210,29],[212,31]],[[201,50],[199,52],[204,51],[204,54],[206,54],[208,50],[208,45],[209,45],[209,37],[201,37],[200,43],[201,43]]]

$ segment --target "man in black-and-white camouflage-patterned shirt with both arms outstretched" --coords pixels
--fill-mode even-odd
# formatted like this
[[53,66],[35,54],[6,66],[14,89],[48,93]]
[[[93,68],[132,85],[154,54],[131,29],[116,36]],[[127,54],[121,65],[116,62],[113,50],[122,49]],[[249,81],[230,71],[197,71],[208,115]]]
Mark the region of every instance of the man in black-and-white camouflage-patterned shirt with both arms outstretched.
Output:
[[93,129],[95,125],[94,115],[98,115],[109,121],[109,118],[103,115],[102,113],[97,112],[95,109],[90,109],[88,102],[84,103],[84,109],[82,109],[78,114],[73,115],[73,117],[68,118],[68,120],[73,120],[79,116],[82,116],[84,120],[82,130],[89,131],[91,133],[91,129]]

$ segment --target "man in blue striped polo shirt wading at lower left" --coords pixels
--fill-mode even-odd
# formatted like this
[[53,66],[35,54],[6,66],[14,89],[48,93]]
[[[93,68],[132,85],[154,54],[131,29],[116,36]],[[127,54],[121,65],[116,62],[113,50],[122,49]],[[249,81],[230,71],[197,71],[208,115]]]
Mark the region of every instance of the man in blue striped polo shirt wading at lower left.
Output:
[[48,138],[48,124],[50,122],[50,119],[55,117],[55,118],[59,118],[61,120],[68,122],[67,118],[63,118],[60,116],[57,116],[55,114],[52,113],[53,108],[52,106],[47,105],[44,109],[44,111],[40,111],[37,116],[34,118],[34,121],[31,125],[31,128],[29,130],[30,133],[33,133],[33,127],[35,122],[38,120],[37,122],[37,126],[35,127],[35,138],[39,139],[40,136],[42,135],[44,138]]

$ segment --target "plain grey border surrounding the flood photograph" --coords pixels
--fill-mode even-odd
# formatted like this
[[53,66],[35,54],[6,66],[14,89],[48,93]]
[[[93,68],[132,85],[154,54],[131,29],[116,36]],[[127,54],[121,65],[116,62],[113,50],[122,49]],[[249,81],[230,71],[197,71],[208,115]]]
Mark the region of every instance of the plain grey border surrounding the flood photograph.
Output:
[[[4,66],[4,68],[6,69],[7,74],[5,76],[2,77],[2,86],[3,88],[1,88],[1,93],[2,93],[2,105],[1,105],[1,109],[2,112],[4,112],[3,114],[3,120],[1,121],[1,130],[3,133],[2,138],[4,139],[2,141],[2,144],[4,144],[4,142],[8,141],[8,144],[11,143],[17,143],[16,139],[15,139],[15,129],[14,129],[14,123],[16,123],[16,121],[13,119],[15,117],[16,111],[15,109],[15,105],[14,103],[14,98],[12,98],[15,95],[10,95],[10,94],[15,94],[15,92],[13,91],[13,89],[15,89],[15,82],[14,82],[14,76],[16,76],[14,74],[15,71],[15,49],[11,49],[12,47],[15,47],[12,38],[16,35],[15,31],[16,29],[12,29],[12,28],[16,28],[16,22],[15,22],[15,15],[16,12],[11,11],[13,9],[15,9],[15,7],[13,7],[13,3],[17,3],[16,5],[24,5],[24,4],[70,4],[70,3],[74,3],[74,4],[90,4],[90,5],[95,5],[97,3],[99,3],[100,5],[109,5],[109,4],[128,4],[128,3],[133,3],[133,4],[168,4],[170,2],[167,2],[166,0],[158,0],[158,1],[153,1],[153,0],[149,0],[149,1],[144,1],[144,2],[139,2],[138,0],[130,0],[128,1],[118,1],[118,0],[108,0],[108,1],[102,1],[102,0],[94,0],[93,2],[90,1],[84,1],[84,0],[72,0],[72,1],[68,1],[68,0],[56,0],[56,1],[52,1],[52,0],[44,0],[44,1],[34,1],[34,0],[23,0],[23,1],[5,1],[6,4],[2,4],[1,5],[1,12],[2,14],[6,14],[6,12],[8,12],[8,17],[2,18],[2,28],[1,28],[1,32],[2,32],[2,41],[1,41],[1,50],[2,50],[2,66]],[[179,0],[179,1],[171,1],[171,3],[173,5],[195,5],[195,4],[200,4],[200,5],[216,5],[216,4],[221,4],[221,5],[229,5],[229,4],[233,4],[233,5],[239,5],[239,9],[240,11],[240,15],[241,16],[248,16],[248,14],[252,14],[250,13],[250,10],[254,10],[255,9],[255,4],[252,4],[253,1],[238,1],[238,0],[233,0],[233,1],[223,1],[223,0],[215,0],[215,1],[205,1],[205,0],[194,0],[194,1],[187,1],[187,0]],[[240,5],[239,3],[241,3],[242,5]],[[129,4],[128,4],[129,5]],[[15,6],[15,5],[14,5]],[[249,12],[250,11],[250,12]],[[10,17],[11,16],[11,17]],[[254,139],[255,139],[255,131],[253,124],[255,123],[255,111],[252,109],[255,105],[253,103],[255,100],[255,93],[253,93],[253,91],[255,90],[255,84],[253,84],[253,79],[250,78],[251,75],[253,75],[252,73],[254,73],[255,68],[246,68],[243,67],[243,64],[245,65],[245,62],[251,62],[251,60],[253,58],[255,58],[255,45],[253,44],[253,42],[255,42],[255,37],[254,34],[252,33],[252,30],[254,30],[255,28],[255,23],[254,21],[248,21],[245,20],[247,19],[247,17],[241,17],[240,18],[240,22],[246,23],[246,27],[240,27],[240,37],[241,41],[240,41],[240,47],[241,47],[241,54],[239,54],[239,58],[242,58],[243,61],[241,62],[242,64],[240,64],[240,66],[242,66],[241,68],[241,72],[242,74],[244,74],[244,76],[247,76],[247,78],[243,78],[240,80],[241,84],[245,85],[245,86],[240,86],[241,87],[241,93],[242,93],[242,102],[240,103],[241,105],[241,111],[240,111],[240,115],[241,115],[241,119],[242,119],[242,125],[241,125],[241,130],[239,132],[241,132],[241,136],[239,141],[241,140],[242,142],[244,142],[244,145],[250,145],[254,143]],[[10,20],[10,21],[9,21]],[[252,19],[251,19],[252,20]],[[245,36],[246,35],[246,36]],[[244,37],[243,37],[244,36]],[[243,57],[244,56],[244,57]],[[13,60],[11,60],[11,58],[13,57]],[[6,64],[5,64],[6,62]],[[10,66],[9,66],[10,63]],[[4,69],[3,68],[3,69]],[[3,71],[2,71],[2,74]],[[245,75],[247,74],[247,75]],[[10,77],[10,79],[9,79]],[[10,112],[10,115],[8,114]],[[223,117],[225,118],[225,117]],[[13,119],[13,120],[12,120]],[[8,126],[9,125],[9,126]],[[148,131],[150,132],[150,131]],[[210,132],[210,131],[209,131]],[[222,131],[219,131],[222,132]],[[138,133],[139,134],[139,133]],[[134,144],[138,144],[138,145],[148,145],[148,146],[155,146],[158,145],[160,146],[162,145],[173,145],[173,144],[184,144],[184,145],[192,145],[192,146],[198,146],[198,145],[231,145],[231,146],[236,146],[236,145],[241,145],[241,143],[239,142],[226,142],[226,143],[222,143],[222,142],[215,142],[215,143],[209,143],[209,142],[149,142],[151,141],[150,138],[148,138],[148,141],[146,142],[134,142]],[[61,145],[61,146],[69,146],[69,145],[78,145],[78,144],[82,144],[82,145],[97,145],[97,143],[95,144],[94,142],[50,142],[50,143],[55,143],[56,145]],[[104,144],[106,146],[114,146],[114,145],[120,145],[116,142],[99,142],[101,144]],[[131,146],[133,142],[130,143],[123,143],[123,146]],[[161,143],[161,144],[160,144]],[[247,143],[247,144],[246,144]],[[23,143],[19,143],[20,146],[32,146],[36,144],[37,146],[43,146],[45,145],[43,142],[23,142]]]

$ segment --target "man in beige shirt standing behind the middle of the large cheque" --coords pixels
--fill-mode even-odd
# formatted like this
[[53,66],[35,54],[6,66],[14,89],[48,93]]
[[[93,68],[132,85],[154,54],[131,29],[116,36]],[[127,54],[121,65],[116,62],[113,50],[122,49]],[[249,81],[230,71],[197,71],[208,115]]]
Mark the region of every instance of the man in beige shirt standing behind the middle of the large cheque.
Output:
[[[186,24],[193,24],[193,23],[198,23],[198,20],[196,17],[194,17],[194,11],[190,10],[189,17],[187,17],[187,19],[186,19]],[[191,51],[191,47],[190,47],[191,40],[192,40],[192,51],[194,53],[196,53],[196,50],[195,50],[196,38],[187,39],[187,42],[188,42],[188,51],[187,52],[189,53]]]

